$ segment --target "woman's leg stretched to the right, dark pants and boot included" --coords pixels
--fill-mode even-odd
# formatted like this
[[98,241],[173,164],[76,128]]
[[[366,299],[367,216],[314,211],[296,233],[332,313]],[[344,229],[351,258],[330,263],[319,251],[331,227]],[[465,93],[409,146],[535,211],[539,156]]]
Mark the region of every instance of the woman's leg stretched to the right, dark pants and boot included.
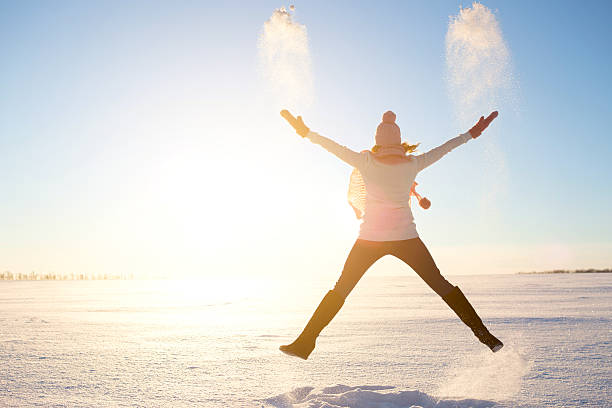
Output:
[[493,352],[504,344],[486,328],[476,310],[467,300],[461,289],[451,285],[440,274],[429,250],[420,238],[398,241],[392,254],[406,262],[431,287],[450,308],[459,316],[480,340]]

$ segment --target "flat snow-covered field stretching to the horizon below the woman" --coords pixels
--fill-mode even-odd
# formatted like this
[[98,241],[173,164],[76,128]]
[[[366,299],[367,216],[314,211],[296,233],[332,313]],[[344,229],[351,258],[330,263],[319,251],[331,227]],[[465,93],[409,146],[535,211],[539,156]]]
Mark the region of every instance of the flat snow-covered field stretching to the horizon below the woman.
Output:
[[308,361],[277,348],[333,280],[0,281],[0,406],[612,406],[612,274],[449,278],[502,351],[413,276],[366,275]]

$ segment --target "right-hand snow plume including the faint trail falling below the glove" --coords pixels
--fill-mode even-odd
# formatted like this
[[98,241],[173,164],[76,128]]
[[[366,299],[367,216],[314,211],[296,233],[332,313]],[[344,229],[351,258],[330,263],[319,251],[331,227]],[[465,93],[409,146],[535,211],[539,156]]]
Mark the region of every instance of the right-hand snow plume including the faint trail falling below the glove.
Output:
[[[446,79],[459,129],[470,128],[480,116],[494,110],[500,111],[501,122],[517,112],[510,51],[495,14],[480,3],[460,9],[449,20]],[[480,142],[487,167],[480,211],[487,218],[499,218],[497,203],[507,194],[506,160],[495,139],[499,126],[495,123]]]

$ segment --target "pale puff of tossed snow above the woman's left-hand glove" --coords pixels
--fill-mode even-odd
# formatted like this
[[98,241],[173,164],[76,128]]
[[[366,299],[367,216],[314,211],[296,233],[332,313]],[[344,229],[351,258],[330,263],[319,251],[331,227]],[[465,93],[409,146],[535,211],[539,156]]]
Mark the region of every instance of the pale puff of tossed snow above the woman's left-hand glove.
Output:
[[313,79],[306,26],[294,20],[291,6],[274,10],[259,37],[259,61],[272,92],[285,107],[312,103]]

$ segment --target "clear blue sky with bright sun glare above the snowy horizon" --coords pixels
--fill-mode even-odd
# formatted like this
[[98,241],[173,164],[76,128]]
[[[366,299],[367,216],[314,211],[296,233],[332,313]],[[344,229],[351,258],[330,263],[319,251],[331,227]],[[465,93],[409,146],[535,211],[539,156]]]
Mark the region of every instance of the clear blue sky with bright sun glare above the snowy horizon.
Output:
[[[387,109],[422,150],[467,130],[444,38],[471,3],[294,4],[315,98],[292,108],[311,128],[355,150]],[[612,6],[483,4],[516,100],[419,175],[419,232],[448,274],[610,267]],[[292,134],[258,67],[283,5],[1,2],[0,270],[335,276],[351,169]]]

